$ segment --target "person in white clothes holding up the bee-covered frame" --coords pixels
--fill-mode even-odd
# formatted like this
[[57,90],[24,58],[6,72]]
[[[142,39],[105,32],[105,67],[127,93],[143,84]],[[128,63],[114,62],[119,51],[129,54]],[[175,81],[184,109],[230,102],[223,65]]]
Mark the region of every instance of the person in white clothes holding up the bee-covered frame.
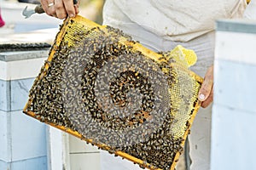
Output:
[[[73,6],[73,0],[41,3],[47,14],[60,19],[79,13],[79,5]],[[195,50],[198,60],[191,70],[204,77],[204,82],[198,94],[202,108],[189,135],[192,170],[210,169],[215,20],[241,18],[246,7],[246,0],[106,0],[103,8],[104,25],[121,29],[147,48],[169,51],[181,44]],[[113,156],[108,161],[111,159]]]

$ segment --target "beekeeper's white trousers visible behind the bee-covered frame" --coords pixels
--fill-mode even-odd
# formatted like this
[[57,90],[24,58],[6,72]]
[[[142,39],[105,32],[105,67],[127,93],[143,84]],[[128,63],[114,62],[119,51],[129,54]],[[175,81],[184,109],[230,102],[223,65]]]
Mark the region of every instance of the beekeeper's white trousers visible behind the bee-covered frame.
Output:
[[[191,68],[201,77],[205,75],[207,68],[213,62],[214,33],[209,32],[204,36],[195,38],[189,42],[171,42],[151,34],[148,31],[139,28],[136,24],[126,24],[119,26],[125,33],[129,33],[134,40],[138,40],[145,47],[154,51],[169,51],[177,44],[183,47],[193,48],[198,55],[196,64]],[[210,162],[210,144],[211,144],[211,107],[201,109],[191,127],[189,135],[190,156],[192,158],[191,170],[207,170]],[[101,154],[101,170],[139,170],[138,165],[131,161],[121,160],[120,157],[109,155],[106,151]]]

